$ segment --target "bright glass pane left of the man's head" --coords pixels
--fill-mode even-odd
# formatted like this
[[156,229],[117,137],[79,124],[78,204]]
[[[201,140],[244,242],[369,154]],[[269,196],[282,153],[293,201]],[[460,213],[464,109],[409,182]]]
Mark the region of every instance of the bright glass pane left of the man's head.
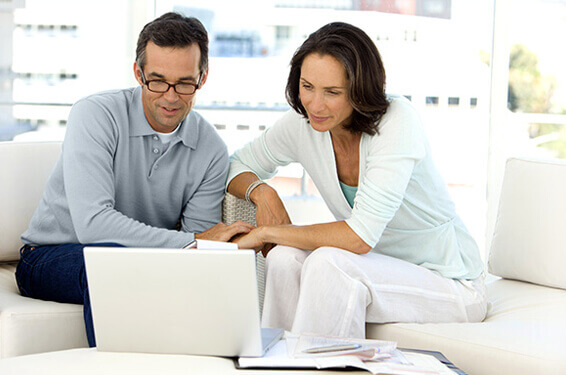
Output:
[[134,85],[137,34],[151,18],[144,1],[3,2],[0,140],[62,139],[72,103]]

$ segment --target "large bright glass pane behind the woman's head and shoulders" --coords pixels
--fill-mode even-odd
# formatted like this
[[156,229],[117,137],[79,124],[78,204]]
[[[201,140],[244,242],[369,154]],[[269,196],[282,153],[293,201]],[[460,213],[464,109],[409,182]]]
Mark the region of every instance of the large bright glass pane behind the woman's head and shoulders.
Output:
[[[478,241],[485,227],[489,52],[492,1],[157,0],[157,14],[200,18],[210,36],[210,75],[200,110],[230,151],[288,108],[284,89],[295,49],[320,26],[353,23],[374,40],[386,64],[387,91],[419,111],[436,163]],[[317,196],[302,169],[272,181],[287,197]]]

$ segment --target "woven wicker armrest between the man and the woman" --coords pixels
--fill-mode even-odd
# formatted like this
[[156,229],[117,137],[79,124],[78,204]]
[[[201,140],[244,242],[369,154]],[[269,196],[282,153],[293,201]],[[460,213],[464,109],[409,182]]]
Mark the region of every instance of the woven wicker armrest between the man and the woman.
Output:
[[[256,225],[255,205],[230,193],[226,193],[224,201],[222,202],[222,222],[229,225],[237,220]],[[261,253],[256,254],[256,270],[259,311],[261,316],[263,297],[265,294],[265,258]]]

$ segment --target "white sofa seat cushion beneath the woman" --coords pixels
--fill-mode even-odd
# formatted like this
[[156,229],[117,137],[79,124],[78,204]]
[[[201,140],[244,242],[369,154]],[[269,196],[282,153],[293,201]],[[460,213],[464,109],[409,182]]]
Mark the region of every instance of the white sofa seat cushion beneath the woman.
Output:
[[566,374],[566,290],[498,279],[482,323],[368,324],[368,337],[438,350],[469,375]]

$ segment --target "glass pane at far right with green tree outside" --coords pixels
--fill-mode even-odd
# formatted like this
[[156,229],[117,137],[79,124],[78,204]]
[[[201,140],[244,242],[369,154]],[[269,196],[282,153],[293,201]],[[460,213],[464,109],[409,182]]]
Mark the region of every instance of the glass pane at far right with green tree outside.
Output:
[[[515,155],[566,158],[566,1],[514,1],[509,14],[507,145]],[[528,24],[529,27],[525,27]]]

